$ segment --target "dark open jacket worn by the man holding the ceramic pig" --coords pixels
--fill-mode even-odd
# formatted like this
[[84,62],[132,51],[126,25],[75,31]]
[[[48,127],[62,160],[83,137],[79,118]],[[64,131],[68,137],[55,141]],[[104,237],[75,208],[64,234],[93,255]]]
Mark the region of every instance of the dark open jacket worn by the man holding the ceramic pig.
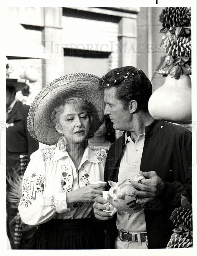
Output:
[[[118,182],[122,152],[125,147],[125,132],[110,147],[106,165],[105,181]],[[144,210],[148,248],[166,248],[172,230],[169,219],[172,211],[180,207],[181,195],[192,202],[192,152],[191,132],[187,129],[154,120],[145,128],[145,141],[140,169],[155,171],[164,182],[162,194],[150,201]],[[108,185],[107,190],[110,186]],[[106,249],[114,249],[117,214],[107,221]]]

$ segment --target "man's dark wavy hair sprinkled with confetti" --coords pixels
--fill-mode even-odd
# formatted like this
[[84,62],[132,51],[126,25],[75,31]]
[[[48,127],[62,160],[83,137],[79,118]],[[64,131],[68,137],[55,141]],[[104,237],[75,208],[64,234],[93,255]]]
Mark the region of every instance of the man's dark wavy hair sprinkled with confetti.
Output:
[[131,100],[136,100],[139,110],[148,111],[148,100],[152,94],[152,84],[145,73],[132,66],[114,68],[99,81],[99,88],[117,88],[117,99],[127,109]]

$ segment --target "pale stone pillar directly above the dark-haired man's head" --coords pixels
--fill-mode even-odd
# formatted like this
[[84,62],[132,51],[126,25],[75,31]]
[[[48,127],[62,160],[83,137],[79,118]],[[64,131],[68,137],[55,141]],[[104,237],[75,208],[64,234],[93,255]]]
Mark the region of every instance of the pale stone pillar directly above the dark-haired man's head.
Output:
[[137,14],[135,16],[122,17],[119,22],[119,67],[137,65]]

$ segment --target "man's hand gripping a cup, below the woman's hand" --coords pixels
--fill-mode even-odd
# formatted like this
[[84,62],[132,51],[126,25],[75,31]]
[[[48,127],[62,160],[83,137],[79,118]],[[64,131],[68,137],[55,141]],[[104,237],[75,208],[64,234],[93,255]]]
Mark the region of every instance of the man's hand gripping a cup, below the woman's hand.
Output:
[[103,211],[103,210],[109,211],[109,206],[103,205],[106,203],[107,203],[107,200],[105,198],[103,198],[102,196],[97,196],[95,198],[94,214],[98,220],[109,220],[109,219],[113,218],[113,216],[110,216],[111,212]]

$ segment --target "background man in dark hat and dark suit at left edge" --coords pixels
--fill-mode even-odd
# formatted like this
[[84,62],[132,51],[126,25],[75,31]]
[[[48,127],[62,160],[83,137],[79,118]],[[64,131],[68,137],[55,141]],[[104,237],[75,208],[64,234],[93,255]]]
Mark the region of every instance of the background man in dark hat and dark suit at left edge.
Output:
[[[17,190],[17,182],[25,172],[28,158],[39,146],[27,130],[27,115],[30,107],[15,100],[16,92],[27,86],[23,80],[25,79],[22,81],[6,79],[7,234],[12,249],[24,249],[26,242],[36,230],[35,227],[24,226],[19,219],[13,221],[18,213],[18,206],[14,201],[20,194]],[[16,190],[10,193],[13,188],[17,190],[17,193]],[[13,195],[16,198],[13,198]]]

